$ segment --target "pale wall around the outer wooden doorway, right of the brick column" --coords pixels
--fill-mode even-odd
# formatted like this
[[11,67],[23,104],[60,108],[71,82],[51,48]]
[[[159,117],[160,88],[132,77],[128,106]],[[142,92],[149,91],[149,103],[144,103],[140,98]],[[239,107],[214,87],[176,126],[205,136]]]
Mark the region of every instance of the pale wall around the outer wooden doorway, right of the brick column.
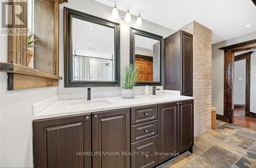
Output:
[[219,48],[252,39],[256,39],[256,32],[212,44],[212,106],[218,114],[223,115],[224,104],[224,51]]

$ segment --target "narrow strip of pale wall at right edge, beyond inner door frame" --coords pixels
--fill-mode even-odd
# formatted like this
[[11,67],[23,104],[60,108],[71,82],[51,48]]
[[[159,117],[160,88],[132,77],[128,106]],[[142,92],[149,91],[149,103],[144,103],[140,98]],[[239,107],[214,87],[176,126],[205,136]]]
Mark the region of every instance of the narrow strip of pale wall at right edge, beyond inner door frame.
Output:
[[256,49],[251,54],[250,112],[256,113]]

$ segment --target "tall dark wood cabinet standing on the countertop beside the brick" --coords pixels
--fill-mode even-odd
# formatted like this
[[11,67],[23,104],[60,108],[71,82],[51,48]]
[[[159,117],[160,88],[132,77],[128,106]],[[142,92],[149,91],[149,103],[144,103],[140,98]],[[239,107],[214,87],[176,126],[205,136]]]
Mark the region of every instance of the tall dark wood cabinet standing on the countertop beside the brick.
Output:
[[164,89],[193,96],[193,35],[182,30],[164,39]]

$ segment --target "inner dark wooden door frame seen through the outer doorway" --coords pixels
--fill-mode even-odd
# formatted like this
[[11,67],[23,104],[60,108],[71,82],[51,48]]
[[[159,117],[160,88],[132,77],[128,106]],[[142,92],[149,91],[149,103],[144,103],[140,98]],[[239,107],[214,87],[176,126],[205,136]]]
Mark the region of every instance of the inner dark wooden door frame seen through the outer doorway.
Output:
[[251,72],[251,53],[253,52],[247,52],[238,56],[234,57],[234,62],[245,60],[246,61],[246,72],[245,72],[245,116],[250,115],[250,72]]

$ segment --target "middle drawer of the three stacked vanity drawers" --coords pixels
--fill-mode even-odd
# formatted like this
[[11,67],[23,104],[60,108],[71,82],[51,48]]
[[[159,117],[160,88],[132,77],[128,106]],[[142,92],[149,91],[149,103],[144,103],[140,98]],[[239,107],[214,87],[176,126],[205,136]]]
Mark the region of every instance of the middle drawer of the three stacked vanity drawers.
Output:
[[151,121],[131,126],[131,142],[135,142],[158,133],[158,121]]

